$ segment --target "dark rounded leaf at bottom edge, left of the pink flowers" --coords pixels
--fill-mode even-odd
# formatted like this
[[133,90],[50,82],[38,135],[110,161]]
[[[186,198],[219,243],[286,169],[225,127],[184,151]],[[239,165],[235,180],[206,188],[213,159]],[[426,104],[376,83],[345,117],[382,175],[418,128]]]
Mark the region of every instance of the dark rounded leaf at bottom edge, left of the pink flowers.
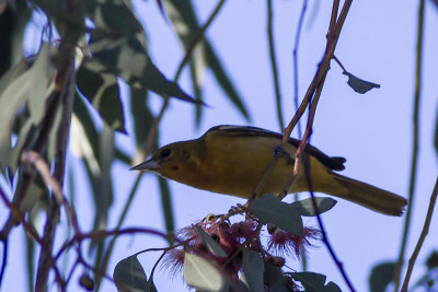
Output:
[[151,291],[148,290],[146,273],[137,256],[118,261],[113,278],[118,291]]

